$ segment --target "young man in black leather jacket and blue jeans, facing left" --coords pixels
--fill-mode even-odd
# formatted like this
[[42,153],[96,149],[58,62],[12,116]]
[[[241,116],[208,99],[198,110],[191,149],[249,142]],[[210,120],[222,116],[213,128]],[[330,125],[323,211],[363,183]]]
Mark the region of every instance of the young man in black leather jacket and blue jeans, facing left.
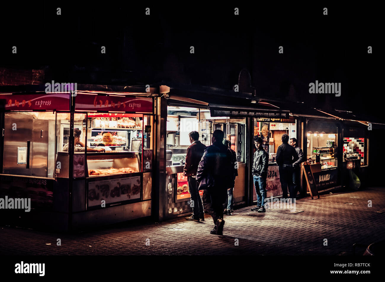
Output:
[[264,204],[266,199],[266,178],[269,166],[269,157],[263,148],[263,139],[261,137],[254,138],[254,144],[257,148],[254,152],[253,162],[253,179],[254,189],[257,194],[257,205],[251,210],[253,212],[266,212]]

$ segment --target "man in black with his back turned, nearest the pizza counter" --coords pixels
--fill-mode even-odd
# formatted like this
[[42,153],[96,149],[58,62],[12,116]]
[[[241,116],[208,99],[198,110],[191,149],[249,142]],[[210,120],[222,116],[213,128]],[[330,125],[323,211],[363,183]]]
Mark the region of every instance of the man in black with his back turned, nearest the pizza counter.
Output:
[[293,146],[288,144],[289,135],[282,135],[282,144],[277,149],[276,162],[280,173],[282,197],[287,199],[288,186],[291,199],[295,198],[293,185],[293,163],[298,160],[298,154]]

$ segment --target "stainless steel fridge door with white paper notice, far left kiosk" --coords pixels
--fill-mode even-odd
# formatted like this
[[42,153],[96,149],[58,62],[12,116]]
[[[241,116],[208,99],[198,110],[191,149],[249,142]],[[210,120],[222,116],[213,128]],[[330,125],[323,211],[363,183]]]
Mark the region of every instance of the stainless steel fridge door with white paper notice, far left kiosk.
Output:
[[17,164],[17,147],[27,147],[27,141],[31,141],[32,147],[32,128],[33,115],[5,113],[3,174],[31,175],[32,148],[27,169],[26,164]]

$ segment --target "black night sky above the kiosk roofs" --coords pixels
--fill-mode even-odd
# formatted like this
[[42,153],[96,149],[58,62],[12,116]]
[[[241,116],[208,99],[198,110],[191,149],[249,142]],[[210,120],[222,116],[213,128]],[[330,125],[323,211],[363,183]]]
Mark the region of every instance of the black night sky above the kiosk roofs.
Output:
[[[1,11],[6,24],[0,67],[44,69],[47,81],[145,85],[164,80],[228,90],[246,68],[258,97],[381,117],[378,7],[12,5]],[[328,15],[323,15],[324,6]],[[62,15],[56,14],[57,7]],[[310,94],[308,85],[315,80],[340,82],[341,97]]]

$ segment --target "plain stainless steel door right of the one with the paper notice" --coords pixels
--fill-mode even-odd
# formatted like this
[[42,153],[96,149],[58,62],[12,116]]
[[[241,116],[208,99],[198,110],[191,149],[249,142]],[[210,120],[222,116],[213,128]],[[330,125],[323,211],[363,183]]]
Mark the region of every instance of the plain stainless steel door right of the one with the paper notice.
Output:
[[47,177],[48,135],[48,120],[33,119],[32,176]]

